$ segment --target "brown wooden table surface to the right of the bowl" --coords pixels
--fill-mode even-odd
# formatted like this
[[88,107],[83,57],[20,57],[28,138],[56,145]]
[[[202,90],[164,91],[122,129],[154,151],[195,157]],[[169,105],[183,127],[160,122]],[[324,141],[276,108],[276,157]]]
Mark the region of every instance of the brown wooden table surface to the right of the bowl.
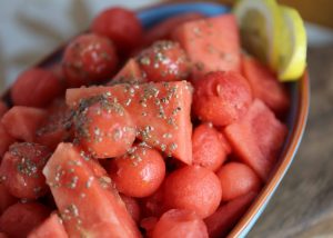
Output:
[[296,158],[249,237],[333,237],[333,44],[309,50],[311,110]]

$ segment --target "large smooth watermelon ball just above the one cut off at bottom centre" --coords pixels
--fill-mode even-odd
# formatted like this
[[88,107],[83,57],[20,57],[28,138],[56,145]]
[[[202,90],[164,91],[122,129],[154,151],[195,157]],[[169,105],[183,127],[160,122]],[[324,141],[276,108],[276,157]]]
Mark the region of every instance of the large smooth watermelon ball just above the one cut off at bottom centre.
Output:
[[200,166],[186,166],[173,171],[164,182],[164,204],[169,209],[193,210],[201,218],[219,207],[222,188],[216,175]]

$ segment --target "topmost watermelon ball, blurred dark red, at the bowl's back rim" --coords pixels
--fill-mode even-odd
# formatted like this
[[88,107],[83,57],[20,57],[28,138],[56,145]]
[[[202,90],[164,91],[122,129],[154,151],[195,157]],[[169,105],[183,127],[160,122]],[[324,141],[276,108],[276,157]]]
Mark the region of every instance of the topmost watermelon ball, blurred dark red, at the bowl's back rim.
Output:
[[119,52],[130,52],[141,43],[143,29],[135,12],[123,8],[102,11],[92,22],[91,31],[112,40]]

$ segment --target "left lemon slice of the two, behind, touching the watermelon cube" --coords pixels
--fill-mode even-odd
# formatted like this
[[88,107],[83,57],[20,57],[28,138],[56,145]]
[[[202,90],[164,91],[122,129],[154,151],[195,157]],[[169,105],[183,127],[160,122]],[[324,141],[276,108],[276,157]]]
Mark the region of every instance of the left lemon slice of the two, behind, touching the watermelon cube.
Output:
[[280,61],[283,19],[275,0],[241,0],[234,8],[242,46],[275,68]]

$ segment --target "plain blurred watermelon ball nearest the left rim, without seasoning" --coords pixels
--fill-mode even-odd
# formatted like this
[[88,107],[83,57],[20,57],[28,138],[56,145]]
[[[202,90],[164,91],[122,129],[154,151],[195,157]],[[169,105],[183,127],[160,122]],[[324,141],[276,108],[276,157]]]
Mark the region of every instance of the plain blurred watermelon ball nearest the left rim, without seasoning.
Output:
[[10,96],[16,106],[41,108],[60,96],[62,91],[62,82],[52,71],[32,68],[18,77],[10,90]]

